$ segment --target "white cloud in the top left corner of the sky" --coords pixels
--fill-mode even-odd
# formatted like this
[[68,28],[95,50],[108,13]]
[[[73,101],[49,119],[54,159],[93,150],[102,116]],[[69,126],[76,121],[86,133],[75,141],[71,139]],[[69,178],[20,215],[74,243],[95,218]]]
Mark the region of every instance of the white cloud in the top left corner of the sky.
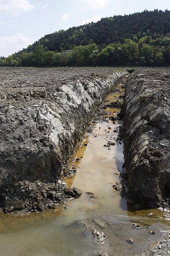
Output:
[[0,12],[8,12],[17,16],[20,12],[27,12],[34,9],[29,0],[0,0]]

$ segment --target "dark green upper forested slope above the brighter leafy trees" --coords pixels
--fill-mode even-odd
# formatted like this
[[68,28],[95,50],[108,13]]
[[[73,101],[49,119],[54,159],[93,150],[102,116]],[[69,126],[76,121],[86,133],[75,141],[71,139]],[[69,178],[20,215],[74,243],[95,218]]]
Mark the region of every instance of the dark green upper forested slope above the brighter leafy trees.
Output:
[[[135,34],[141,37],[148,30],[151,36],[155,33],[163,35],[170,33],[170,11],[144,11],[102,18],[97,23],[92,22],[46,35],[40,39],[40,43],[49,51],[60,51],[61,43],[64,44],[64,49],[71,49],[74,45],[87,45],[90,42],[103,48],[110,43],[123,43],[125,39],[133,39]],[[38,42],[33,44],[33,49],[37,44]]]

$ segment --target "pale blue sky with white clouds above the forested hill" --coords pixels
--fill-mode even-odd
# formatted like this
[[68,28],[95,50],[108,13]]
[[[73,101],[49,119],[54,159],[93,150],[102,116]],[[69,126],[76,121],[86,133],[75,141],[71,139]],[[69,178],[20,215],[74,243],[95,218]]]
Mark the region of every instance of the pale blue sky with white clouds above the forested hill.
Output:
[[60,29],[145,9],[170,10],[170,0],[0,0],[0,56]]

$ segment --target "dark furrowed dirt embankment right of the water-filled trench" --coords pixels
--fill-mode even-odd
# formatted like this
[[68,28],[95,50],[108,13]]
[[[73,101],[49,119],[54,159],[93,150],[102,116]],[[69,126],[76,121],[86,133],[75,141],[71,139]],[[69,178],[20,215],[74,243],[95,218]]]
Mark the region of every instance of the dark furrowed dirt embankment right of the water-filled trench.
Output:
[[135,208],[170,205],[169,69],[139,69],[129,77],[124,145]]

